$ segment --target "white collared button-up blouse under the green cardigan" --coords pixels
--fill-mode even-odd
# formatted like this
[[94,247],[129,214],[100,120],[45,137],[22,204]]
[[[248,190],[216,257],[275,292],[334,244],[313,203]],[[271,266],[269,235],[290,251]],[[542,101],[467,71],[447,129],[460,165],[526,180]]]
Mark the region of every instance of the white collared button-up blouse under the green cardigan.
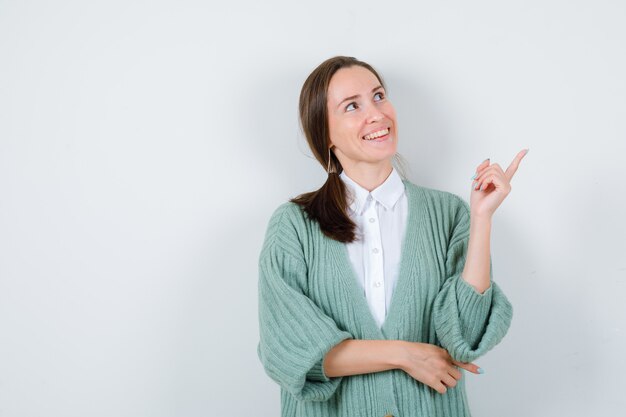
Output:
[[393,168],[371,192],[340,174],[352,196],[348,214],[357,225],[357,240],[347,243],[350,261],[372,316],[382,327],[396,288],[406,231],[408,201],[404,183]]

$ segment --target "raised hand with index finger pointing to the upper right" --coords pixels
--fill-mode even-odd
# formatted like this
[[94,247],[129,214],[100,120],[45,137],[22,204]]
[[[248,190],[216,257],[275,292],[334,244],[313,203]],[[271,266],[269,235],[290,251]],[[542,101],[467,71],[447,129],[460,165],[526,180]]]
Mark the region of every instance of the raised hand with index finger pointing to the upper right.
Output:
[[521,150],[506,169],[506,172],[502,171],[498,164],[490,165],[489,159],[478,165],[470,195],[472,216],[486,218],[493,216],[493,213],[511,192],[513,174],[527,153],[527,149]]

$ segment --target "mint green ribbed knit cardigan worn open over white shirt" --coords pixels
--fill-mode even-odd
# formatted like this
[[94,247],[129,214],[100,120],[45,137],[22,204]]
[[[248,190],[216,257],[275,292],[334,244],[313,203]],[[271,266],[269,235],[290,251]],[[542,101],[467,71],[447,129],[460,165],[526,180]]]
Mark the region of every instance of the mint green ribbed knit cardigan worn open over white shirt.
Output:
[[439,394],[393,369],[327,377],[326,353],[345,339],[407,340],[471,362],[498,344],[512,307],[493,282],[480,294],[462,277],[469,205],[403,180],[408,219],[400,272],[382,328],[370,313],[344,243],[322,234],[301,208],[273,213],[259,258],[258,357],[280,385],[282,417],[470,416],[465,376]]

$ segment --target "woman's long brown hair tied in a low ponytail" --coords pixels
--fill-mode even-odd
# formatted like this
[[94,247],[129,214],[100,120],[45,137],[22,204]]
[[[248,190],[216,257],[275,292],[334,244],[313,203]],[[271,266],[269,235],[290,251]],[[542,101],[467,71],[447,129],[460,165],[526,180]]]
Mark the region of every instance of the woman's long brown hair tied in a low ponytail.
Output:
[[[369,64],[348,56],[336,56],[322,62],[304,82],[300,91],[300,123],[306,140],[315,159],[326,170],[330,166],[328,179],[319,190],[301,194],[292,202],[300,205],[308,217],[319,223],[322,232],[339,242],[353,242],[356,239],[356,224],[348,216],[346,186],[339,178],[343,171],[341,163],[331,146],[328,127],[327,92],[330,80],[342,68],[361,66],[378,78],[385,86],[382,77]],[[329,161],[330,157],[330,161]]]

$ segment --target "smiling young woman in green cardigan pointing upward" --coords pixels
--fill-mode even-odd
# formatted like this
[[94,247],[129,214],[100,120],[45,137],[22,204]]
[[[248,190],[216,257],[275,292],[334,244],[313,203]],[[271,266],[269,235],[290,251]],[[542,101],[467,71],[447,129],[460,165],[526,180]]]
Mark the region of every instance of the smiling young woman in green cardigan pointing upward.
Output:
[[282,416],[469,416],[462,371],[511,322],[491,219],[527,150],[506,172],[480,163],[470,205],[402,179],[382,78],[351,57],[309,75],[300,121],[328,179],[276,209],[259,259],[257,353]]

